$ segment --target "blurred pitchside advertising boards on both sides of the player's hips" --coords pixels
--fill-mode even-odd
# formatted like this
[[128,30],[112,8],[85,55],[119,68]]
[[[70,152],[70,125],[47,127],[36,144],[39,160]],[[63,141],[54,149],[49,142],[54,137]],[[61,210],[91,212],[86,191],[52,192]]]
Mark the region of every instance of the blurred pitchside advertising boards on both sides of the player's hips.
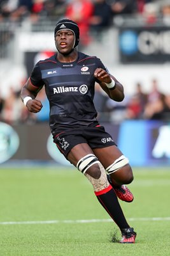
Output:
[[[170,167],[170,123],[129,120],[120,125],[102,125],[132,166]],[[0,163],[27,160],[69,164],[53,143],[46,123],[11,127],[1,122],[0,145]]]

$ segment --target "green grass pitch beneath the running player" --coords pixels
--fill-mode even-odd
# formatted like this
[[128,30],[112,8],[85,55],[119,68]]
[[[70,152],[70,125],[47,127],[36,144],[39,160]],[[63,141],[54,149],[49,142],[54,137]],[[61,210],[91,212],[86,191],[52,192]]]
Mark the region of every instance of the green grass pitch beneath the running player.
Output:
[[120,204],[138,236],[119,244],[117,225],[76,168],[1,168],[0,255],[170,255],[170,170],[133,169],[134,202]]

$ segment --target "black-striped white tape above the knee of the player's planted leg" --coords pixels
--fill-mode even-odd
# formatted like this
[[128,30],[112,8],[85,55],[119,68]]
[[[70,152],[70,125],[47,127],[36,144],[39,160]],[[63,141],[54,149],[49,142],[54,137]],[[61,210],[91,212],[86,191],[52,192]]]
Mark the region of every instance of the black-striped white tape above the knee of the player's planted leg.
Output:
[[93,164],[100,163],[96,156],[93,154],[88,154],[87,156],[82,157],[76,164],[76,168],[83,174],[90,168]]

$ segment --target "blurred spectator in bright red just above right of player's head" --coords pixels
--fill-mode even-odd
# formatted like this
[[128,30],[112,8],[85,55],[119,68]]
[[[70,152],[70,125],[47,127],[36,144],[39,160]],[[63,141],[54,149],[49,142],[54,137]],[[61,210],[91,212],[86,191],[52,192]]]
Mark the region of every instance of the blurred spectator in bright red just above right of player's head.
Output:
[[94,5],[90,0],[73,0],[67,4],[66,18],[74,20],[80,28],[80,45],[89,45],[91,38],[89,35],[89,20],[94,12]]

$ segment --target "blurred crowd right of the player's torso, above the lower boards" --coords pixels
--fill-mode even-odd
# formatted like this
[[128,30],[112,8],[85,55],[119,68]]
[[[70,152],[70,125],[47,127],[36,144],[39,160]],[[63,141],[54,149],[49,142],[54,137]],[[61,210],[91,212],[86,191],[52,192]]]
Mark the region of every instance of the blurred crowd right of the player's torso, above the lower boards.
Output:
[[97,87],[94,100],[99,112],[98,119],[117,124],[123,120],[170,121],[170,94],[160,92],[157,79],[152,79],[150,83],[150,92],[143,92],[143,84],[137,83],[136,92],[125,95],[122,102],[108,99]]

